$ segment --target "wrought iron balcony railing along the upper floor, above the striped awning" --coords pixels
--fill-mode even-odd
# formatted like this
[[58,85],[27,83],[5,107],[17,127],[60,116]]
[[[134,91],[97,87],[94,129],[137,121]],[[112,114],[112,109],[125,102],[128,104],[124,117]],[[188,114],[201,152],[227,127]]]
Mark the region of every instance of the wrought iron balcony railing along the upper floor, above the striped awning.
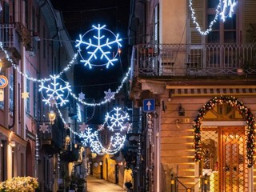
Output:
[[134,76],[256,74],[256,44],[134,46]]

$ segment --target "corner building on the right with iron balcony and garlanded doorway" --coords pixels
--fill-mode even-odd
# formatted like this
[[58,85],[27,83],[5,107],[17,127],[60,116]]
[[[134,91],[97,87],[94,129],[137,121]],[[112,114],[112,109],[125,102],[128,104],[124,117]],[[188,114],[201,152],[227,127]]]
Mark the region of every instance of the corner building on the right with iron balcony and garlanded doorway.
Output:
[[255,10],[251,0],[131,1],[136,191],[255,190]]

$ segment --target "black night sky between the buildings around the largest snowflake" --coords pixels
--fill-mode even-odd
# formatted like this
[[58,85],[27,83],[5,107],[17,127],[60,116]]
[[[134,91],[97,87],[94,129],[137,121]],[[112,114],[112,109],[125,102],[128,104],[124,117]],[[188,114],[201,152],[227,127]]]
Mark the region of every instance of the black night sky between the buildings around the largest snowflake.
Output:
[[[106,66],[89,69],[83,63],[74,66],[74,92],[81,91],[86,98],[101,99],[109,88],[114,92],[128,70],[128,21],[130,0],[51,0],[54,8],[63,15],[66,30],[72,40],[85,34],[92,25],[106,25],[106,28],[122,38],[122,54],[119,62],[106,69]],[[78,58],[80,60],[80,58]]]

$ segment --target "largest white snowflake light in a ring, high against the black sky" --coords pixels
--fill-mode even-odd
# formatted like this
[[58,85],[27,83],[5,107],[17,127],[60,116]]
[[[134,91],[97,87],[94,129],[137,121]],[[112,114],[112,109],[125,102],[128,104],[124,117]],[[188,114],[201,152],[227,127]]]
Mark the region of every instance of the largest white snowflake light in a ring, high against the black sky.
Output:
[[[92,26],[85,34],[79,35],[79,40],[76,40],[79,54],[85,66],[114,66],[118,56],[118,50],[122,46],[122,39],[118,34],[114,34],[111,30],[106,29],[106,25]],[[113,38],[109,39],[104,34],[110,34]],[[84,38],[89,40],[84,40]],[[86,54],[84,54],[86,53]],[[97,56],[100,56],[99,58]]]

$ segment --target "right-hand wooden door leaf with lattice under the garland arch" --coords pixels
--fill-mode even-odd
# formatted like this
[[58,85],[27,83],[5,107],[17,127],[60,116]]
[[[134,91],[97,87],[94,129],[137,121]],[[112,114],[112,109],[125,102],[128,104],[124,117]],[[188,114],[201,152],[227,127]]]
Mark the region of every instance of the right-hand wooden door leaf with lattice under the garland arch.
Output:
[[[219,157],[222,166],[220,186],[223,192],[248,191],[246,185],[246,147],[244,127],[222,127],[222,155]],[[220,169],[221,170],[221,169]]]

